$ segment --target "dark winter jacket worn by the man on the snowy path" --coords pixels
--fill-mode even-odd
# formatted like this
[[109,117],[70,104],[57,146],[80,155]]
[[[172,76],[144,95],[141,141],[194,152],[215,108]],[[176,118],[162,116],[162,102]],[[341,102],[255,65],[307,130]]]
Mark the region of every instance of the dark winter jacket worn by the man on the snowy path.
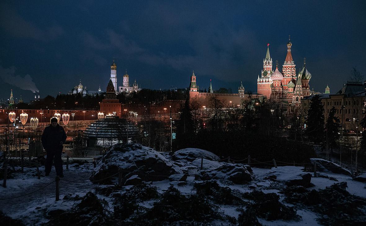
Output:
[[45,150],[61,148],[60,142],[65,143],[66,133],[62,126],[57,124],[53,127],[49,125],[45,128],[42,134],[42,145]]

